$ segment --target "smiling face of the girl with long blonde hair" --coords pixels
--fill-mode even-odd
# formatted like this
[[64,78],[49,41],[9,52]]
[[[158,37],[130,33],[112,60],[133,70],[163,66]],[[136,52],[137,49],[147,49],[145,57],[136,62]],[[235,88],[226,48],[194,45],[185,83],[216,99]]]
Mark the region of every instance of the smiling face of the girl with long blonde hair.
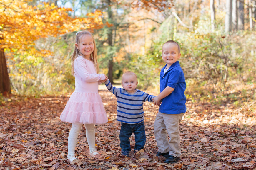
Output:
[[90,35],[81,37],[79,44],[76,43],[76,47],[86,59],[90,60],[90,55],[94,50],[93,40]]

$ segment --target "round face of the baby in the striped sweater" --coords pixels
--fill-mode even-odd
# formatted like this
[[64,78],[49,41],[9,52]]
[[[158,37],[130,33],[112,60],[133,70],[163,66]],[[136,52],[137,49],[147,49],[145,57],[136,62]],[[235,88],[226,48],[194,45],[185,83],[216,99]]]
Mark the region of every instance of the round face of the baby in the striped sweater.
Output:
[[135,93],[135,88],[137,87],[137,79],[135,75],[125,75],[122,78],[122,86],[129,93]]

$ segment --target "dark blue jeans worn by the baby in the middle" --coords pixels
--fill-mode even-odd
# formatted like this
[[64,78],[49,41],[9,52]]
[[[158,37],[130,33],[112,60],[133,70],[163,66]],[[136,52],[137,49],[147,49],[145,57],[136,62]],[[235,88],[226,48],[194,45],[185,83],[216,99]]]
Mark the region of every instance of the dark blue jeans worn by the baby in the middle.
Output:
[[135,135],[135,146],[134,150],[139,151],[144,148],[146,143],[146,134],[145,134],[145,125],[144,122],[128,124],[121,123],[121,130],[119,134],[120,138],[120,147],[122,149],[122,153],[128,153],[131,151],[130,145],[130,136],[134,133]]

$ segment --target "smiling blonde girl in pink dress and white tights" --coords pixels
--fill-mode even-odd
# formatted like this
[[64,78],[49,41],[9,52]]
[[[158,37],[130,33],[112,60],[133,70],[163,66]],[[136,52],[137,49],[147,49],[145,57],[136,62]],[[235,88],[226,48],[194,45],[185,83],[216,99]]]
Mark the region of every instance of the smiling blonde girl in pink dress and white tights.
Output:
[[60,115],[61,121],[72,123],[67,155],[70,162],[76,159],[75,147],[82,125],[85,125],[90,153],[96,156],[98,152],[95,148],[94,125],[108,122],[98,93],[98,85],[106,81],[107,76],[98,74],[97,49],[92,33],[89,31],[76,33],[76,44],[71,60],[76,88]]

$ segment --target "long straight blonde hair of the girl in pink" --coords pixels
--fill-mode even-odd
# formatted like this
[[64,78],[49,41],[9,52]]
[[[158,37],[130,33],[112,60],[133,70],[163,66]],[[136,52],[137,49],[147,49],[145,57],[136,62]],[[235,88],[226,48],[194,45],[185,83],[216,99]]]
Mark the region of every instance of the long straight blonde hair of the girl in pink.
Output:
[[[96,48],[96,44],[95,44],[95,40],[93,38],[93,35],[91,32],[89,31],[79,31],[77,32],[76,34],[76,43],[78,44],[79,46],[79,43],[81,41],[81,38],[85,35],[90,35],[92,37],[92,40],[93,40],[93,46],[94,46],[94,50],[93,52],[91,53],[91,56],[90,58],[92,58],[92,61],[94,63],[94,67],[95,67],[95,70],[96,70],[96,73],[98,74],[99,73],[99,64],[98,64],[98,61],[97,61],[97,48]],[[83,56],[82,53],[80,52],[79,49],[77,49],[76,45],[75,45],[75,49],[74,49],[74,52],[71,56],[71,65],[72,65],[72,69],[71,69],[71,72],[72,72],[72,75],[75,76],[75,72],[74,72],[74,61],[75,59],[78,57],[78,56]]]

